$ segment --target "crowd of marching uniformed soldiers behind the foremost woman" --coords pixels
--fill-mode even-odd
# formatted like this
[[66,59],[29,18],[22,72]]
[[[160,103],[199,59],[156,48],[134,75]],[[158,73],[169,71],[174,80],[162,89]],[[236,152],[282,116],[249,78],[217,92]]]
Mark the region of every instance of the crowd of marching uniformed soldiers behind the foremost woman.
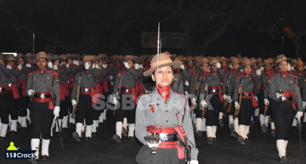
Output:
[[[289,129],[297,126],[294,117],[306,122],[306,71],[301,58],[278,55],[263,60],[241,54],[225,58],[164,53],[183,63],[174,69],[171,90],[188,96],[188,112],[197,137],[207,136],[207,143],[213,144],[217,141],[217,127],[223,127],[223,118],[228,117],[231,136],[245,144],[249,141],[249,128],[259,118],[258,128],[262,132],[271,129],[279,158],[282,163],[287,161]],[[53,132],[59,134],[56,119],[62,131],[76,129],[72,134],[76,141],[83,137],[90,140],[103,126],[106,112],[115,116],[113,139],[117,143],[122,142],[122,136],[136,140],[137,97],[155,88],[151,77],[143,75],[152,67],[153,57],[39,52],[33,61],[30,53],[16,57],[0,53],[0,140],[6,139],[7,132],[15,135],[31,124],[31,147],[39,147],[42,139],[42,158],[47,159],[50,138]],[[107,105],[94,108],[96,94],[104,95],[101,100],[117,110],[109,110]],[[122,105],[123,94],[135,107]],[[41,106],[49,111],[40,111]]]

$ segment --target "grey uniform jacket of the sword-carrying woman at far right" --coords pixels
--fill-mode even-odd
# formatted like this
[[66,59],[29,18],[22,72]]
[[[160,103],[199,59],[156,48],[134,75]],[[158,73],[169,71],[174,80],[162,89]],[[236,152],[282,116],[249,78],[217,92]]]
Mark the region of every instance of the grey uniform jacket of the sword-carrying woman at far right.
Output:
[[297,86],[295,76],[289,75],[289,73],[287,73],[286,79],[284,79],[280,73],[277,73],[275,76],[271,77],[270,81],[268,81],[268,84],[270,99],[278,101],[278,98],[276,97],[276,92],[279,91],[279,88],[281,89],[281,91],[293,91],[297,110],[300,112],[303,111],[300,89]]

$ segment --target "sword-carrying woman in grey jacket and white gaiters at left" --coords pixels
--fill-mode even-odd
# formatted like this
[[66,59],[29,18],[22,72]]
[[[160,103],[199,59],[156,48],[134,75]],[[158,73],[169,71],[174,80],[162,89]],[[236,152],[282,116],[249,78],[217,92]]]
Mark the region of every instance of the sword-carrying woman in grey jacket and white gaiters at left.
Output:
[[[42,160],[49,157],[50,129],[54,118],[60,111],[60,94],[58,88],[58,73],[47,68],[52,58],[45,52],[39,52],[33,62],[38,71],[28,74],[26,94],[33,99],[29,103],[31,117],[31,148],[38,150],[42,138]],[[39,151],[35,154],[39,159]],[[31,160],[35,162],[36,160]]]

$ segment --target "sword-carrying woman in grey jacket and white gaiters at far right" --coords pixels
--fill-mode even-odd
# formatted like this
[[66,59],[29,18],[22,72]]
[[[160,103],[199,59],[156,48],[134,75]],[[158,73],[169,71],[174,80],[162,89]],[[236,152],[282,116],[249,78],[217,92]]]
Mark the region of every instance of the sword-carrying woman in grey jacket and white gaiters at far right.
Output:
[[[300,122],[303,115],[302,99],[297,77],[288,73],[288,61],[285,55],[276,57],[276,65],[280,70],[268,80],[270,99],[273,101],[272,117],[275,124],[276,147],[281,163],[287,163],[286,147],[289,140],[290,126],[294,116]],[[296,112],[296,110],[298,110]]]

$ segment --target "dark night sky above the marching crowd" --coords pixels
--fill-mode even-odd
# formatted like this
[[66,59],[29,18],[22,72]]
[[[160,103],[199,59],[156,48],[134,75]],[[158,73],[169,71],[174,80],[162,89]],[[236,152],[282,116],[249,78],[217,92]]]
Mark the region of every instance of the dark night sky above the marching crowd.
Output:
[[[35,31],[35,52],[112,55],[128,43],[135,55],[156,54],[154,48],[141,47],[141,32],[157,32],[160,22],[161,32],[190,36],[185,48],[162,47],[170,53],[275,56],[284,36],[284,54],[294,57],[300,45],[304,56],[304,10],[304,1],[0,0],[0,51],[32,52]],[[220,35],[201,49],[222,26]],[[283,27],[291,27],[291,33]]]

